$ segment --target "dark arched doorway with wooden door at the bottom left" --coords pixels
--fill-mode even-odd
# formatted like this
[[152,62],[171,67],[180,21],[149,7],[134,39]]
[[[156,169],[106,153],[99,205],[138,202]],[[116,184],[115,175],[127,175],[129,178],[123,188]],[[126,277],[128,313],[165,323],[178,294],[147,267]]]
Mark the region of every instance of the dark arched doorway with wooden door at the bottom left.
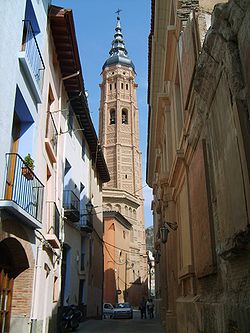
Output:
[[0,242],[0,332],[10,331],[14,279],[29,267],[25,250],[16,238]]

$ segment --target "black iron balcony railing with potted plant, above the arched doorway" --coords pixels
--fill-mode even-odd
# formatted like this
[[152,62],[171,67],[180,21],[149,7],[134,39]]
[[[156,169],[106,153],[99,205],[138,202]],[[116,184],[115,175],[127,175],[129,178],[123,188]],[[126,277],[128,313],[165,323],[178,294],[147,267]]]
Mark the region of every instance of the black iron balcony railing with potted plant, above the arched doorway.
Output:
[[3,200],[14,201],[39,222],[42,221],[44,186],[24,160],[7,153],[6,186]]

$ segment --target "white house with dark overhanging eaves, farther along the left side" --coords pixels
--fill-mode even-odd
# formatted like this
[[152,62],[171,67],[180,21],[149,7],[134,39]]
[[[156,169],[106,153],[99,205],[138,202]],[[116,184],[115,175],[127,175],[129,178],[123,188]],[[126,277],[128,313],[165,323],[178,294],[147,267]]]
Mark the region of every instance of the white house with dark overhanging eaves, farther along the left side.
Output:
[[110,178],[89,113],[72,10],[51,6],[49,19],[67,96],[61,109],[65,126],[60,132],[64,142],[60,304],[75,304],[84,316],[99,317],[103,287],[102,184]]

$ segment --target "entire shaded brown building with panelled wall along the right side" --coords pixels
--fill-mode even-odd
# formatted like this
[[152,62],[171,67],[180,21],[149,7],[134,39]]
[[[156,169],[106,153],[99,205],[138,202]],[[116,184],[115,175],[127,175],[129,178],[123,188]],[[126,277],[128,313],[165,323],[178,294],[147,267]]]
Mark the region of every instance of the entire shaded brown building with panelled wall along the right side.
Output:
[[249,330],[250,8],[215,4],[152,1],[147,182],[168,332]]

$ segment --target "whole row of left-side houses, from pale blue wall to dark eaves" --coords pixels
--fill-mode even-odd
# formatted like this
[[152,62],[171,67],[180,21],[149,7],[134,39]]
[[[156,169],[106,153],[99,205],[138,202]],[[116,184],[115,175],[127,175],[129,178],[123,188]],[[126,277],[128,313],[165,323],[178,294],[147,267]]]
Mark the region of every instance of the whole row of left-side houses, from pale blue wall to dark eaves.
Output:
[[1,14],[0,328],[55,332],[66,299],[101,313],[102,274],[91,276],[103,267],[95,207],[109,174],[72,11],[19,0],[4,1]]

